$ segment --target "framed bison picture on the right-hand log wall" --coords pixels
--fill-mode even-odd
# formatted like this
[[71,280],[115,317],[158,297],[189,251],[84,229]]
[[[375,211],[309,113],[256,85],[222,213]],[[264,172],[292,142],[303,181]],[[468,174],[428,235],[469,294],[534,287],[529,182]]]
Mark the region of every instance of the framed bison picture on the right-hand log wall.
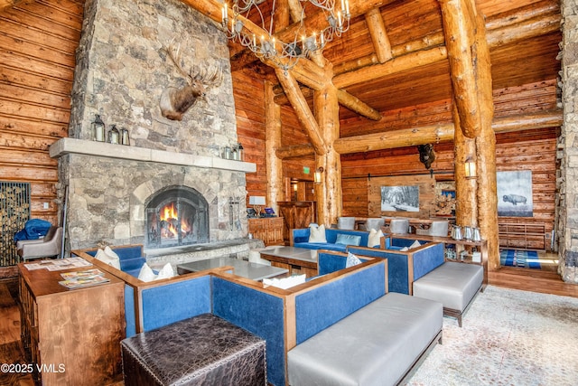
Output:
[[508,217],[533,217],[532,171],[496,173],[498,215]]

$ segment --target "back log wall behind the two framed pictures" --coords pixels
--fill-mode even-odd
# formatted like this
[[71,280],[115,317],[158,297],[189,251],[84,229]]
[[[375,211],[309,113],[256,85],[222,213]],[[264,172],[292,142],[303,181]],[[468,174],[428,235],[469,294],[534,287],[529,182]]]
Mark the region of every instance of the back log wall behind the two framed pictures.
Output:
[[[555,80],[496,90],[494,103],[497,117],[553,110],[556,106]],[[392,129],[449,122],[451,103],[440,101],[426,106],[397,110],[387,113],[385,119],[387,127]],[[350,126],[344,126],[341,122],[342,136],[349,137],[362,133],[359,122],[357,119],[349,122]],[[369,130],[377,129],[375,123],[368,123],[367,126]],[[552,248],[550,237],[555,222],[557,136],[558,129],[553,128],[504,133],[497,136],[497,170],[531,170],[533,185],[533,217],[499,217],[504,246],[548,250]],[[452,181],[454,167],[452,144],[437,144],[434,149],[436,158],[432,166],[433,178],[436,183]],[[372,181],[376,178],[428,174],[419,161],[415,147],[342,155],[341,165],[345,216],[364,217],[371,214],[371,205],[368,205],[368,202],[371,201]],[[510,226],[509,229],[514,231],[508,233],[513,235],[506,234],[504,231],[506,224],[524,224],[522,228],[530,231],[520,232],[520,227]],[[540,232],[544,233],[542,237],[536,235]]]

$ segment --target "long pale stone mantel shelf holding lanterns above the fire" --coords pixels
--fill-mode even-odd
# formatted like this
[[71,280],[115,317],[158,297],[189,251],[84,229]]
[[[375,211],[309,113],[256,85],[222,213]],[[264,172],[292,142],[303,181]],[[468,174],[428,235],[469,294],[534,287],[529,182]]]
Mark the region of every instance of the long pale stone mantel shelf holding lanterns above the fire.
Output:
[[52,158],[60,158],[62,155],[68,154],[93,155],[168,165],[197,166],[244,173],[256,172],[256,164],[250,162],[145,149],[136,146],[113,145],[106,142],[87,141],[77,138],[61,138],[50,146],[50,155]]

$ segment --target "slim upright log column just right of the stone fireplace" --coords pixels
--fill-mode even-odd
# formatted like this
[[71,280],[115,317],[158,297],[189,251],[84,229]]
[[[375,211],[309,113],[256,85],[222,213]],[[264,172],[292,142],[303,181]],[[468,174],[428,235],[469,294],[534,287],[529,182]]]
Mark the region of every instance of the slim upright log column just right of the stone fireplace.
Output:
[[275,155],[281,147],[281,107],[273,100],[273,84],[265,81],[265,156],[267,202],[275,213],[277,202],[284,201],[283,160]]

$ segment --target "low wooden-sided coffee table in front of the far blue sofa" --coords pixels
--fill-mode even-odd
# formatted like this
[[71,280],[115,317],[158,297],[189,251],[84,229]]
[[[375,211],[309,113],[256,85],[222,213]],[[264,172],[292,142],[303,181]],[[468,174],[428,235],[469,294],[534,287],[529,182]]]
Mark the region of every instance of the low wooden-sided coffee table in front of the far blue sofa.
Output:
[[271,261],[271,265],[286,268],[291,275],[317,276],[317,249],[276,247],[261,251],[261,259]]

